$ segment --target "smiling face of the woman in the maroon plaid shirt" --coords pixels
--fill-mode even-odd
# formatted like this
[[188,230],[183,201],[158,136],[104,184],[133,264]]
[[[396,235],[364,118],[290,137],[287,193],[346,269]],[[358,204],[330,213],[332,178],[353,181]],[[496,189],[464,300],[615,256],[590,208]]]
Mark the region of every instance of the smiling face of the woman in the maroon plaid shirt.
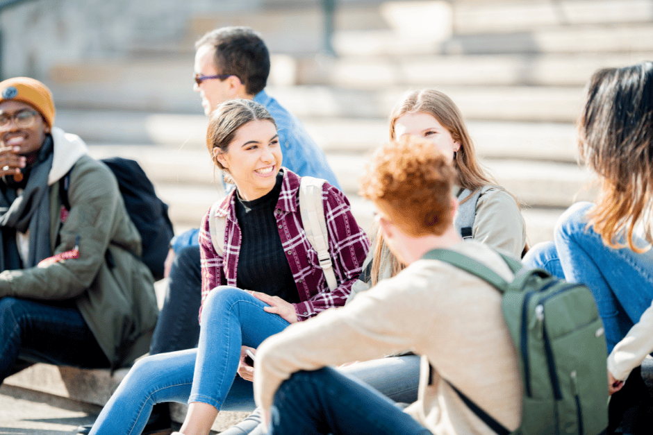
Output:
[[283,159],[274,123],[249,121],[236,131],[226,153],[220,153],[220,148],[213,148],[213,153],[229,170],[245,201],[261,198],[274,188]]

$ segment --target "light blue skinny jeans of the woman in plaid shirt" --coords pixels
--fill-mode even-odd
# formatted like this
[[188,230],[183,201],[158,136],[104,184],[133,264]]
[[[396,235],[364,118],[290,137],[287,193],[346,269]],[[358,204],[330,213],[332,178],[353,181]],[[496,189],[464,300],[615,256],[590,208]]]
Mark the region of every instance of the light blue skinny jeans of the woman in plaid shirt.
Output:
[[137,435],[160,402],[203,402],[218,410],[238,369],[240,347],[257,348],[288,322],[263,310],[246,291],[221,286],[204,301],[197,349],[152,355],[129,370],[91,430],[92,435]]

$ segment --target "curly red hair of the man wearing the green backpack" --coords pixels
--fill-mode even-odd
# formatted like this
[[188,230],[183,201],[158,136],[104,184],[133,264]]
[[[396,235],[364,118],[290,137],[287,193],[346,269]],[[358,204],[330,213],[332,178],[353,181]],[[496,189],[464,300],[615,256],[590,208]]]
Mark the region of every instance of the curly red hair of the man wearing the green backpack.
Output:
[[361,196],[380,203],[413,237],[441,235],[452,225],[456,170],[431,142],[402,137],[374,153],[361,178]]

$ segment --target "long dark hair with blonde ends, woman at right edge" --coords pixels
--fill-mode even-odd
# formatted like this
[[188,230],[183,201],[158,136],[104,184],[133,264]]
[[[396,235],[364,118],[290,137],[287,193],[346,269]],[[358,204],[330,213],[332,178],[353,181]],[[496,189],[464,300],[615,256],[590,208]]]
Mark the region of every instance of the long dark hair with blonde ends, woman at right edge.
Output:
[[[611,248],[645,252],[653,243],[653,62],[596,71],[578,130],[580,155],[601,178],[588,225]],[[638,223],[644,248],[634,244]]]

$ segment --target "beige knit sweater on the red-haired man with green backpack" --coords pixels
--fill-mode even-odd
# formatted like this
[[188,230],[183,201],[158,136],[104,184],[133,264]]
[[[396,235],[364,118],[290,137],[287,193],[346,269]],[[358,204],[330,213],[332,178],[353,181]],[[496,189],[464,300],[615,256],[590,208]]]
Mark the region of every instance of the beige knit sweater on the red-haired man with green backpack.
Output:
[[[513,277],[488,246],[465,241],[452,249],[508,280]],[[443,379],[508,429],[518,427],[520,375],[501,296],[483,280],[436,260],[415,262],[347,307],[290,325],[263,342],[254,375],[256,403],[270,409],[276,389],[297,370],[366,361],[402,350],[422,355],[419,399],[406,412],[433,434],[495,435]]]

